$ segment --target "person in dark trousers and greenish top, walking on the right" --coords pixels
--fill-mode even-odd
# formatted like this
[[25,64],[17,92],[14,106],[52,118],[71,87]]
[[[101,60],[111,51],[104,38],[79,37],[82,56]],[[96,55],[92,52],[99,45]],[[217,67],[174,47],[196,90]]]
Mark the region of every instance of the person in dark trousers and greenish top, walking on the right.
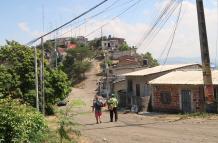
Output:
[[113,122],[114,115],[115,115],[115,122],[117,122],[118,120],[117,106],[118,106],[118,100],[115,97],[115,94],[112,94],[110,99],[108,100],[108,108],[110,111],[110,121],[111,122]]

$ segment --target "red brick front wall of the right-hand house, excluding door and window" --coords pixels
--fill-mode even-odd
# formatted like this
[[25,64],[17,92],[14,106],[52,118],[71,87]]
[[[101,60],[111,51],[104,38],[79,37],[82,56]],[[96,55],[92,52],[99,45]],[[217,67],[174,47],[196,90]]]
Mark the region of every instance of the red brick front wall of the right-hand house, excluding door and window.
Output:
[[[197,85],[157,85],[154,86],[152,97],[153,111],[181,112],[181,89],[189,89],[192,92],[192,112],[202,112],[204,109],[203,86]],[[160,93],[162,91],[171,92],[171,103],[163,104]]]

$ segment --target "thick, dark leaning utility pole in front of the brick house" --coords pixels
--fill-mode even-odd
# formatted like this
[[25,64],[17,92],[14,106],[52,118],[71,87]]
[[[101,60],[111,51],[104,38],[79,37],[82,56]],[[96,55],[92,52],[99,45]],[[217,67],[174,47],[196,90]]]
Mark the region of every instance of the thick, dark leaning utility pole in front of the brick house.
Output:
[[[215,103],[203,0],[196,0],[206,108]],[[211,109],[210,109],[211,110]],[[213,109],[212,109],[213,110]]]

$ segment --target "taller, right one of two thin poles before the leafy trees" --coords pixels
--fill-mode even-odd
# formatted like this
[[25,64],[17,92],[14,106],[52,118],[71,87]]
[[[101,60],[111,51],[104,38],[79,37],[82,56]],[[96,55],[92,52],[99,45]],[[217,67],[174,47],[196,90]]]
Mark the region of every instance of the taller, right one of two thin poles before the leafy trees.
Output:
[[45,90],[44,90],[44,44],[43,37],[41,38],[41,66],[40,66],[40,81],[41,81],[41,103],[42,113],[45,115]]

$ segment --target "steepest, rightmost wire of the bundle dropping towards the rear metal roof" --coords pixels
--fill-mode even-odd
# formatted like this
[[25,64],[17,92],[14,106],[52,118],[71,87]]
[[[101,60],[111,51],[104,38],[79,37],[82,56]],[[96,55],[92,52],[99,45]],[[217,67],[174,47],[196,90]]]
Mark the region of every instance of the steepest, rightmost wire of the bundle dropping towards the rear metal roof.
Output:
[[179,20],[180,20],[180,16],[181,16],[182,2],[183,2],[183,0],[181,0],[181,4],[180,4],[178,16],[177,16],[176,23],[175,23],[175,27],[174,27],[174,30],[173,30],[173,37],[172,37],[172,40],[171,40],[171,43],[170,43],[170,47],[169,47],[169,49],[168,49],[168,51],[167,51],[167,56],[166,56],[166,59],[165,59],[163,65],[166,64],[167,59],[168,59],[168,56],[169,56],[169,53],[170,53],[170,50],[172,49],[172,46],[173,46],[173,42],[174,42],[174,39],[175,39],[176,30],[177,30],[177,27],[178,27],[178,24],[179,24]]

